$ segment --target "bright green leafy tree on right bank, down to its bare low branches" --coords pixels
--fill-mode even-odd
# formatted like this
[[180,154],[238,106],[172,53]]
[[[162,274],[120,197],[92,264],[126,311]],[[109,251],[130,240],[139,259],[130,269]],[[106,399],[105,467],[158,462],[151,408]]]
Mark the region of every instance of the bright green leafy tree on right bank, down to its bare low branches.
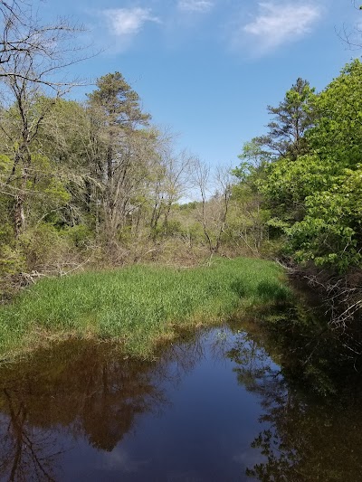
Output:
[[313,100],[315,126],[304,137],[310,153],[269,165],[261,186],[269,224],[285,235],[284,254],[324,290],[337,326],[362,308],[361,85],[356,60]]

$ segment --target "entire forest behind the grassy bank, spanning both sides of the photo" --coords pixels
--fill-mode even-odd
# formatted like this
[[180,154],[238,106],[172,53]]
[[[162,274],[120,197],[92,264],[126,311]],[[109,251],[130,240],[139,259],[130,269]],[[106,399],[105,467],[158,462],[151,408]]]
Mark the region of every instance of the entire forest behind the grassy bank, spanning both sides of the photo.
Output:
[[278,260],[320,289],[332,323],[357,318],[360,61],[319,92],[297,79],[239,164],[211,167],[177,151],[119,71],[67,99],[77,81],[62,72],[87,55],[71,47],[77,29],[0,8],[2,302],[44,277],[217,254]]

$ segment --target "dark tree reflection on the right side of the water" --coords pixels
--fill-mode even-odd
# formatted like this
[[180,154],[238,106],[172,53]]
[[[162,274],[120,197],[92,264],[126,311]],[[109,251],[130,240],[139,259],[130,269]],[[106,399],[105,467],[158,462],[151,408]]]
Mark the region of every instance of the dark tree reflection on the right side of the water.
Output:
[[265,460],[246,475],[262,482],[359,480],[361,375],[340,339],[321,334],[318,324],[298,332],[291,319],[277,329],[248,330],[227,353],[238,382],[261,397],[263,408],[264,429],[252,448]]

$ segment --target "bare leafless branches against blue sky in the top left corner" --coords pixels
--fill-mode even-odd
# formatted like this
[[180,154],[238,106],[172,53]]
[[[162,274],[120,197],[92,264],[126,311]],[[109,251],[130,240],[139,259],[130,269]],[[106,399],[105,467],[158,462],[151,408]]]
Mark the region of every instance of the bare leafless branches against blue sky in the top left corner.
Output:
[[59,72],[93,55],[74,42],[83,31],[66,18],[43,24],[32,3],[0,0],[0,77],[22,77],[61,95],[79,82]]

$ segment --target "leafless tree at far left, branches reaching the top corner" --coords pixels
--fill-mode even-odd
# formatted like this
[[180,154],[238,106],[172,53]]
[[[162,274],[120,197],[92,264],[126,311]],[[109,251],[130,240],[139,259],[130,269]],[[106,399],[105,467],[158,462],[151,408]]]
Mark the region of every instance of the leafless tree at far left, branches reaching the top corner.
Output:
[[[2,116],[0,128],[12,158],[11,174],[0,179],[2,193],[14,200],[14,232],[24,232],[24,204],[29,194],[39,130],[56,99],[76,83],[56,80],[57,74],[71,63],[79,49],[70,45],[78,29],[65,21],[41,24],[32,8],[23,3],[0,5],[3,37],[0,41],[0,81],[2,83]],[[47,92],[46,97],[43,96]],[[6,125],[6,112],[12,109],[11,128]],[[11,154],[10,154],[10,151]]]

